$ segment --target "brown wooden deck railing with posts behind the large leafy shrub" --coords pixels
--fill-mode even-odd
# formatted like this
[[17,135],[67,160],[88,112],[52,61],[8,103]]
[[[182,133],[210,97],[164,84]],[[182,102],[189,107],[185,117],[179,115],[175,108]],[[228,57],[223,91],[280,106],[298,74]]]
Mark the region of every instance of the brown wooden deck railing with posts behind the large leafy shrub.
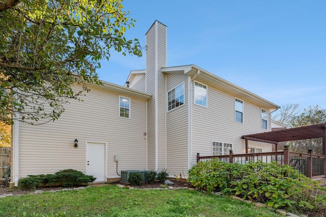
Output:
[[302,172],[309,178],[316,176],[324,176],[326,159],[325,156],[309,153],[290,152],[288,148],[283,151],[261,152],[261,153],[243,153],[234,154],[232,150],[228,155],[222,156],[200,156],[197,153],[197,162],[209,161],[219,158],[221,161],[228,163],[246,164],[249,161],[261,160],[263,162],[277,161],[278,164],[289,165],[292,168]]

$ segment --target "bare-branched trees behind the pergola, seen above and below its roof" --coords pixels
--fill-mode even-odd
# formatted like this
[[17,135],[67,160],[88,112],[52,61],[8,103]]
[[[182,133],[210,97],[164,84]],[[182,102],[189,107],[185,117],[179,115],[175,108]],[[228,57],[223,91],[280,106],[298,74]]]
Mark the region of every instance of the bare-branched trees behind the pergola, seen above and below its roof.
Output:
[[[292,116],[288,121],[292,128],[317,125],[326,122],[326,109],[321,109],[318,105],[310,106],[300,115]],[[322,139],[306,139],[289,142],[290,148],[296,152],[307,152],[313,150],[315,154],[322,154]]]

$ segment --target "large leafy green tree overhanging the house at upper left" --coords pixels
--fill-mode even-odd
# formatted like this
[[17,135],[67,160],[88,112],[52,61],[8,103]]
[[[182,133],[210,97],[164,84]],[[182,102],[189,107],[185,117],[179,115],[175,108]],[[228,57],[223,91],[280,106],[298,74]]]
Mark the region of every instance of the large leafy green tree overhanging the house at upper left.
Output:
[[0,121],[56,120],[88,83],[101,83],[100,59],[141,56],[139,41],[124,37],[134,20],[121,2],[0,0]]

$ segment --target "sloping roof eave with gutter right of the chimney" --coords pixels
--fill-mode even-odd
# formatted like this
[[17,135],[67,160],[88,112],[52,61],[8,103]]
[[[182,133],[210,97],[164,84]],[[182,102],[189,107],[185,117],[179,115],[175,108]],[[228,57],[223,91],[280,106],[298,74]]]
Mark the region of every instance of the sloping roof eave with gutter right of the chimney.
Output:
[[[199,70],[199,74],[198,74]],[[214,86],[217,89],[220,89],[228,94],[236,96],[244,101],[249,101],[255,105],[258,105],[264,109],[277,110],[280,106],[259,97],[252,92],[239,87],[219,76],[216,76],[198,66],[195,65],[186,65],[186,66],[177,66],[177,67],[165,67],[161,69],[165,73],[184,73],[188,76],[196,77],[196,79],[203,81],[207,84]]]

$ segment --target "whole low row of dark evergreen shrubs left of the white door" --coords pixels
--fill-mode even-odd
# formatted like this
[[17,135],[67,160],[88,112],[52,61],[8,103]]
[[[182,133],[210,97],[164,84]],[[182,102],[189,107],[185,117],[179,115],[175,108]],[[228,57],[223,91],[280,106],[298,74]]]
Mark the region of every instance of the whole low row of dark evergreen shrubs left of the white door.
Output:
[[72,187],[76,185],[87,184],[95,181],[96,178],[84,173],[67,169],[56,174],[46,175],[28,175],[26,178],[19,179],[19,187],[23,189],[35,189],[45,185],[62,185],[63,187]]

